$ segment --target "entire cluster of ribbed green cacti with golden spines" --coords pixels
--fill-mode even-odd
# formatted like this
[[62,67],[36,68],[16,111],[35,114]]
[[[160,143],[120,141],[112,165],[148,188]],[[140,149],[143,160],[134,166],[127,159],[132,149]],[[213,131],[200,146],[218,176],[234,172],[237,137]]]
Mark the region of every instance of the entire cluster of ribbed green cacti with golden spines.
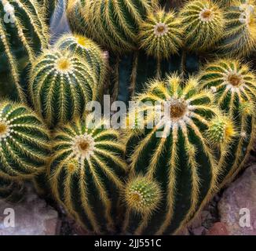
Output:
[[[14,20],[0,17],[0,50],[27,101],[0,102],[0,197],[31,180],[87,231],[178,234],[256,139],[255,2],[69,0],[74,34],[53,45],[48,4],[0,3]],[[120,118],[126,129],[90,114],[107,93],[144,104]]]

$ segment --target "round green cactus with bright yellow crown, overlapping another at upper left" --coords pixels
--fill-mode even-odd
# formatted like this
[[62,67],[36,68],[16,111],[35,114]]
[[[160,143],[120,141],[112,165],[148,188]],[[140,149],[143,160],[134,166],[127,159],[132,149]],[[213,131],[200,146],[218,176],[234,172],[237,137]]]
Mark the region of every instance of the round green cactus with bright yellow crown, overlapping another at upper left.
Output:
[[82,115],[97,89],[94,72],[82,56],[46,50],[32,64],[31,100],[49,126]]

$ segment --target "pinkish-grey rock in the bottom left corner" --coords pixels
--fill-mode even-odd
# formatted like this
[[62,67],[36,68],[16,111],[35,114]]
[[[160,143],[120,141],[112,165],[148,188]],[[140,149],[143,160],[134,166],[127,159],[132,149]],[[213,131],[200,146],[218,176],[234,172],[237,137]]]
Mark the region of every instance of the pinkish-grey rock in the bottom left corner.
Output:
[[[4,214],[5,209],[13,213]],[[0,235],[58,235],[59,228],[57,211],[31,191],[17,204],[0,199]]]

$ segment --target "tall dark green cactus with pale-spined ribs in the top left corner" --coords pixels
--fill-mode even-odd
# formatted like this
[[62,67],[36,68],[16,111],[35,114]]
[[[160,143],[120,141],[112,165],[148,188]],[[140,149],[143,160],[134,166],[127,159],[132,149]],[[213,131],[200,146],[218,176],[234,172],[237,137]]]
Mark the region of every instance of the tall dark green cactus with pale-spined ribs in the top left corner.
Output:
[[45,17],[35,0],[3,0],[0,16],[0,71],[10,72],[16,93],[24,100],[20,71],[35,59],[35,53],[47,46]]

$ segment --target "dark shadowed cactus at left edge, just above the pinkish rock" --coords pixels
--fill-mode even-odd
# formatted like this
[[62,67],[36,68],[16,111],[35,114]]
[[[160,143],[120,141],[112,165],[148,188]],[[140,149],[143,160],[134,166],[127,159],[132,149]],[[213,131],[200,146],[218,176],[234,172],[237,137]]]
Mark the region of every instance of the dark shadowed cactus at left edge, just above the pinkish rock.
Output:
[[24,184],[14,180],[0,178],[0,199],[7,202],[20,202],[24,194]]

